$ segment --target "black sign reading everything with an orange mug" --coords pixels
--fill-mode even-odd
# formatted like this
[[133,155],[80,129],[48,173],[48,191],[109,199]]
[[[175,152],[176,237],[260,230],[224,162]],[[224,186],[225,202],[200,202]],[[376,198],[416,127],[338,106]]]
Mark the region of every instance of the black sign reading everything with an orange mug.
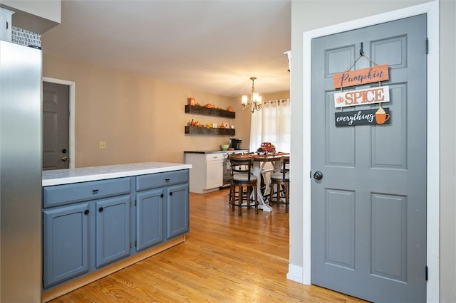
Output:
[[355,110],[353,112],[335,112],[336,127],[389,124],[390,110],[388,107],[377,110]]

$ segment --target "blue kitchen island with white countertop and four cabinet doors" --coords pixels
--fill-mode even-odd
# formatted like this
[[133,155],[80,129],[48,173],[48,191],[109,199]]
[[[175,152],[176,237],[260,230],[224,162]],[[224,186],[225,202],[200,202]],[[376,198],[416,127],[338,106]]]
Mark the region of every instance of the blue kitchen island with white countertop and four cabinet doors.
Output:
[[191,167],[43,171],[43,302],[184,242]]

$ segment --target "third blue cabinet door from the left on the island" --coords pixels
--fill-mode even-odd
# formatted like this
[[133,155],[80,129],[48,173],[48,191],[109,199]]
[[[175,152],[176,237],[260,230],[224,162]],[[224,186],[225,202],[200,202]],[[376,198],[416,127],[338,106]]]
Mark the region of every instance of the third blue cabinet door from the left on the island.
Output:
[[163,188],[136,195],[136,250],[163,242]]

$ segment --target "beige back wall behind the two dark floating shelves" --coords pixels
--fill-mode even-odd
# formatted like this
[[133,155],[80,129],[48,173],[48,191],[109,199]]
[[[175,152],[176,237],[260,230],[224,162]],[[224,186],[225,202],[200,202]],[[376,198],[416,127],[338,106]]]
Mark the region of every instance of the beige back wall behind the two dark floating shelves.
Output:
[[[243,139],[241,147],[249,147],[250,112],[241,109],[240,97],[214,95],[46,53],[43,76],[76,83],[76,167],[141,161],[182,163],[185,150],[214,150],[229,143],[230,136],[185,134],[191,119],[234,124],[235,137]],[[232,105],[236,118],[185,114],[187,97],[224,109]],[[100,141],[107,142],[108,148],[98,149]]]

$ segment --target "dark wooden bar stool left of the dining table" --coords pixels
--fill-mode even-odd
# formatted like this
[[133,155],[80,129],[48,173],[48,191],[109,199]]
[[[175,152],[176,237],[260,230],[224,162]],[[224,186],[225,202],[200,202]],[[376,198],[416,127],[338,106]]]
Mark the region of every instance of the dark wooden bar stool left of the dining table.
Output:
[[[231,210],[239,208],[238,216],[242,216],[242,207],[255,208],[258,214],[257,199],[257,176],[252,174],[254,157],[251,155],[229,155],[231,164],[231,185],[229,186],[229,204]],[[244,191],[245,189],[245,191]],[[252,205],[252,193],[254,193],[254,204]],[[244,201],[245,199],[245,201]]]

